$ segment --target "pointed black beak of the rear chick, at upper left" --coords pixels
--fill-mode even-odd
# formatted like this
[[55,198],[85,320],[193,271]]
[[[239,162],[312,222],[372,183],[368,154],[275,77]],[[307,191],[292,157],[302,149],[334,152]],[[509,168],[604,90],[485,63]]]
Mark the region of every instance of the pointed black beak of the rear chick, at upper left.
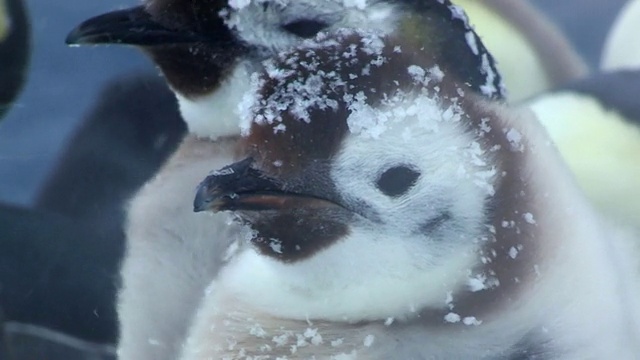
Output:
[[169,29],[157,21],[143,6],[118,10],[84,21],[67,35],[68,45],[124,44],[157,46],[206,41],[201,35]]

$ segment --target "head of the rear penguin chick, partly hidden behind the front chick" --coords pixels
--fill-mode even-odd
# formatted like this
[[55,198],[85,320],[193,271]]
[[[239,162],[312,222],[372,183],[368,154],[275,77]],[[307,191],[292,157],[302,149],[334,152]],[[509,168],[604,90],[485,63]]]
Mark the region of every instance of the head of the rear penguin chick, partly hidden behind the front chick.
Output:
[[458,63],[474,90],[503,95],[499,76],[481,76],[497,74],[491,55],[449,0],[148,0],[87,20],[67,43],[141,47],[175,91],[190,131],[216,138],[239,133],[236,105],[264,59],[338,28],[406,38]]

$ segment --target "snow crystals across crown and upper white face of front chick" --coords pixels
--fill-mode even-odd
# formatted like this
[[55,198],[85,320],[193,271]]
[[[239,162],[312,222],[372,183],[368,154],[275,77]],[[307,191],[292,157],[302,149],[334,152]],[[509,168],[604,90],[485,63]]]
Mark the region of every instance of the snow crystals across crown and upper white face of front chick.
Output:
[[[340,30],[331,36],[320,34],[303,42],[294,51],[267,60],[264,74],[252,77],[254,91],[247,94],[240,105],[243,134],[247,134],[254,123],[271,125],[274,133],[284,132],[286,125],[282,123],[282,115],[285,112],[308,123],[311,121],[310,110],[335,111],[340,105],[349,111],[346,120],[350,132],[373,139],[379,138],[393,123],[402,123],[407,118],[418,119],[421,128],[434,132],[438,131],[439,123],[459,122],[464,114],[457,100],[449,99],[452,104],[445,106],[438,96],[440,83],[446,77],[438,65],[424,68],[413,64],[404,69],[406,73],[398,74],[397,78],[406,78],[408,74],[414,85],[411,88],[422,91],[403,92],[401,88],[409,84],[400,84],[393,80],[394,74],[389,73],[385,76],[397,85],[392,93],[378,94],[378,89],[353,90],[352,82],[372,76],[374,68],[389,61],[388,56],[401,53],[401,46],[385,44],[385,38],[379,33]],[[321,66],[326,61],[331,61],[335,68],[326,64]],[[274,93],[264,98],[260,90],[265,88]],[[336,94],[344,95],[338,98]],[[368,98],[372,94],[376,99],[382,98],[375,101],[375,106],[372,106],[374,101]],[[458,95],[464,96],[464,91],[459,89]],[[406,135],[410,136],[410,133]],[[480,163],[483,150],[479,145],[469,151],[475,157],[472,163],[486,165],[485,162]],[[495,169],[475,172],[476,182],[485,186],[490,194],[493,194],[493,189],[488,184],[494,175]]]

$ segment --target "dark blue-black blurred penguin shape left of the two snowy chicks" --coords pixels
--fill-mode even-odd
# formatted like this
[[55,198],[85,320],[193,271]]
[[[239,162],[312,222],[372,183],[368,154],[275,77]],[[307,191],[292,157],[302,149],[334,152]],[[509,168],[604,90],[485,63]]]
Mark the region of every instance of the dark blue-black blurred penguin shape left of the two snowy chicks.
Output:
[[35,209],[0,204],[0,306],[7,321],[116,343],[124,208],[185,131],[157,75],[129,74],[102,89]]

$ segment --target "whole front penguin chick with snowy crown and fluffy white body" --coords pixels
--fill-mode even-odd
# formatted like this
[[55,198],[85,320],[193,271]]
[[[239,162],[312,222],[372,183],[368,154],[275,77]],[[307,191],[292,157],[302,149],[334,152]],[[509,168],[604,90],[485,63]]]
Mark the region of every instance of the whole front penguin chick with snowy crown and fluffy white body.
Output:
[[631,235],[591,209],[531,113],[452,66],[353,30],[265,65],[239,161],[195,197],[244,230],[182,359],[640,353]]

